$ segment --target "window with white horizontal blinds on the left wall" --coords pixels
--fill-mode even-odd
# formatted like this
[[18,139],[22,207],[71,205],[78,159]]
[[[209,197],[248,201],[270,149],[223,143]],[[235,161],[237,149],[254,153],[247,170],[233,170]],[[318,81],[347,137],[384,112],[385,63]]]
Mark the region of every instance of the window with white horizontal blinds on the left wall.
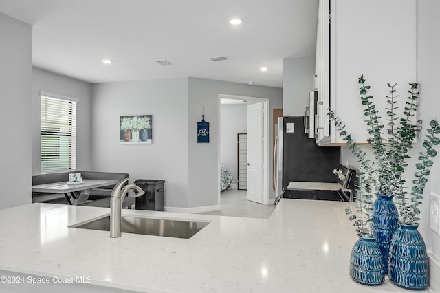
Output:
[[76,169],[76,101],[41,94],[41,173]]

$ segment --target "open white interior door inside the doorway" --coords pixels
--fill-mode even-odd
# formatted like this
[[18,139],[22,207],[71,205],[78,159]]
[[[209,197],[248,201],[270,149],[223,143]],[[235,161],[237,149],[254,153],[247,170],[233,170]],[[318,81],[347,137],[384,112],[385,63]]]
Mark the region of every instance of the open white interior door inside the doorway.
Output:
[[263,102],[248,105],[248,200],[263,204]]

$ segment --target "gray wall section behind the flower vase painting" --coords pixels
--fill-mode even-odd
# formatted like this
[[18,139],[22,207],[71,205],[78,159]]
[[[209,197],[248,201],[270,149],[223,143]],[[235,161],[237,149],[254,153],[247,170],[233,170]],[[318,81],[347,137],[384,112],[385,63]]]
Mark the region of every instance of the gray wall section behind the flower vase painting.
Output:
[[[188,78],[93,85],[92,169],[165,180],[165,206],[188,206]],[[152,115],[152,144],[120,144],[120,116]]]

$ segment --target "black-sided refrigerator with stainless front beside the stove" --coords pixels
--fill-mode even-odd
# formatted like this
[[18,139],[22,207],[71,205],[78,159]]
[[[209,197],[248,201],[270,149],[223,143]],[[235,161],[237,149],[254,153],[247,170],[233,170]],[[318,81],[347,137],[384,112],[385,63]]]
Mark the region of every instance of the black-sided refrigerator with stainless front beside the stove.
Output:
[[276,197],[289,182],[336,182],[333,169],[340,165],[340,146],[318,146],[308,138],[304,116],[278,118],[274,154]]

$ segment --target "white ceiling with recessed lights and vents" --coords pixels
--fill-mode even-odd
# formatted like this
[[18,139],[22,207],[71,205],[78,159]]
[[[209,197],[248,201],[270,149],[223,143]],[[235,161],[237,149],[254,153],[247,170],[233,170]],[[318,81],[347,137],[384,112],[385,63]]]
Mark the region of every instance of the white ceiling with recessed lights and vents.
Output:
[[192,76],[282,87],[283,58],[315,55],[318,0],[0,0],[0,12],[33,25],[35,67],[89,83]]

